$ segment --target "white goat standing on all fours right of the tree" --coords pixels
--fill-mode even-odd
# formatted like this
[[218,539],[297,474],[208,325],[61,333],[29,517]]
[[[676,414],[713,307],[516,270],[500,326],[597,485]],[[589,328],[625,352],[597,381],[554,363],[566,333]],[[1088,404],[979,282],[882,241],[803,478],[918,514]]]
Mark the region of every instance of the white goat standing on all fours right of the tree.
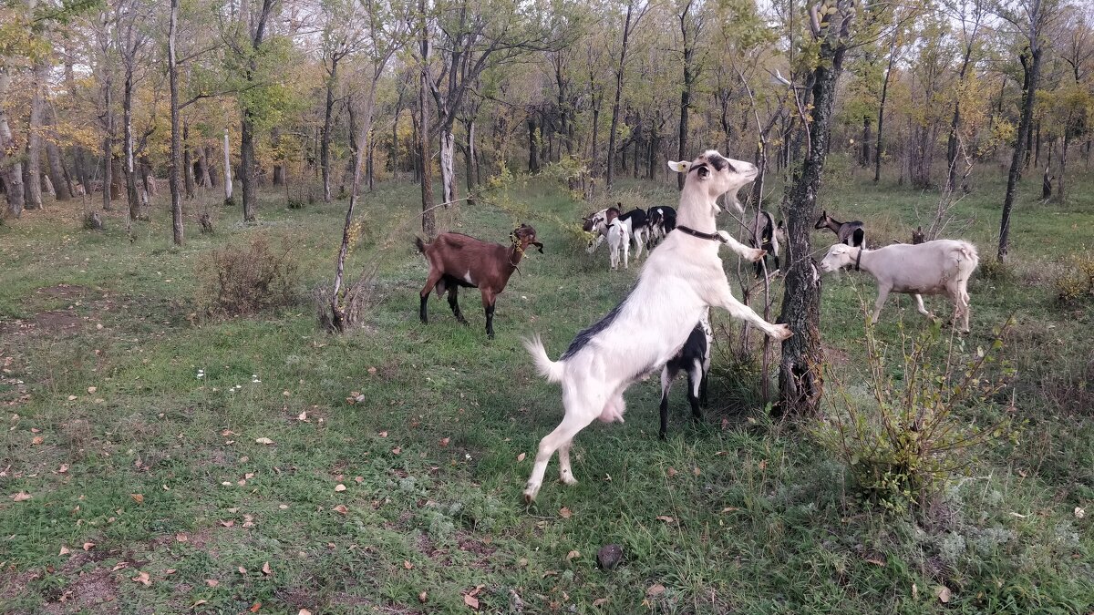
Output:
[[898,243],[877,250],[836,244],[821,262],[821,270],[837,271],[854,266],[877,279],[877,302],[871,322],[877,322],[889,291],[911,294],[916,309],[928,317],[923,294],[945,294],[954,304],[953,323],[963,318],[962,332],[968,333],[968,278],[979,264],[976,246],[964,241],[935,240],[920,244]]

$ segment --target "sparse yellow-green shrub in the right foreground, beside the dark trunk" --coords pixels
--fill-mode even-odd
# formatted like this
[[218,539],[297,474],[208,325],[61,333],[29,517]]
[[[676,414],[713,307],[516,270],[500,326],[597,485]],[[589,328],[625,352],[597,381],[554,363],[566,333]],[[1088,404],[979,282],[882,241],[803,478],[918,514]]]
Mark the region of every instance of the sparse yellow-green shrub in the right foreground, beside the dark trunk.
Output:
[[[858,487],[887,508],[926,508],[979,453],[1016,438],[1005,413],[981,422],[994,414],[992,401],[1013,375],[1005,362],[986,374],[1002,348],[1002,332],[969,359],[959,357],[954,336],[943,339],[941,332],[935,323],[911,336],[901,326],[898,345],[888,348],[866,324],[864,386],[848,387],[826,370],[837,407],[812,431],[847,464]],[[892,350],[894,362],[886,357]]]

